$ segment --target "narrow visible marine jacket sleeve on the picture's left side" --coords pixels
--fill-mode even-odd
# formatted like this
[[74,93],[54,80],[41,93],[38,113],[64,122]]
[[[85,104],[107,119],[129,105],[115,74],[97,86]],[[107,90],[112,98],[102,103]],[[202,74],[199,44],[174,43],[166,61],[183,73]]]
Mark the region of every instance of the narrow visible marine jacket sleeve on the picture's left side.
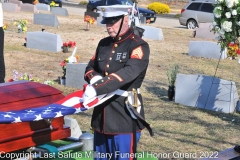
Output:
[[[99,42],[99,44],[101,43],[101,41]],[[99,45],[98,45],[99,46]],[[98,73],[96,71],[96,61],[95,61],[95,58],[97,57],[97,52],[98,52],[98,47],[96,49],[96,52],[95,54],[93,55],[93,57],[90,59],[90,61],[88,62],[88,65],[86,67],[86,70],[85,70],[85,75],[84,75],[84,79],[85,81],[87,81],[88,83],[90,83],[90,80],[99,75],[99,76],[102,76],[100,73]]]

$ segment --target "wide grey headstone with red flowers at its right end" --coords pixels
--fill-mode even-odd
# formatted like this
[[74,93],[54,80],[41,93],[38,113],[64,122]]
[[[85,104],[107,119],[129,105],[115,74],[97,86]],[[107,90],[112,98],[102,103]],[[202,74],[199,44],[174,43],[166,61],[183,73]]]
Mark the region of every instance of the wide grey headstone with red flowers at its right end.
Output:
[[59,52],[62,47],[60,35],[48,32],[27,32],[27,48],[49,52]]

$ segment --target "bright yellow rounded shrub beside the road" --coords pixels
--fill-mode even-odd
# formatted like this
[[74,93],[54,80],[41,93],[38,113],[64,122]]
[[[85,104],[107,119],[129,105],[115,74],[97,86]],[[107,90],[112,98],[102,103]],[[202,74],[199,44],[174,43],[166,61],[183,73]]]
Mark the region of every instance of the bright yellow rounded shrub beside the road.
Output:
[[170,8],[167,4],[160,2],[153,2],[148,5],[148,9],[154,11],[157,14],[170,13]]

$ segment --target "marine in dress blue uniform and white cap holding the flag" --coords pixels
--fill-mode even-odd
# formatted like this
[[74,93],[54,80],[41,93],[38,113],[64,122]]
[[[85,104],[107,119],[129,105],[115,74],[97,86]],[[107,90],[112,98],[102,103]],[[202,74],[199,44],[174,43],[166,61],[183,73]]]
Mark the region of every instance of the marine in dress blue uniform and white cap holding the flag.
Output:
[[[115,37],[109,36],[100,40],[85,71],[85,80],[90,84],[84,95],[87,98],[110,93],[117,89],[132,91],[133,88],[141,87],[149,63],[150,50],[148,43],[134,35],[129,28],[129,8],[131,6],[125,8],[118,8],[116,5],[98,7],[103,11],[104,18],[101,23],[106,24],[108,29],[108,24],[121,22],[123,32],[118,31]],[[127,27],[124,28],[124,25]],[[122,26],[119,26],[118,30],[121,30]],[[137,96],[141,102],[139,114],[144,118],[141,94],[138,92]],[[115,95],[94,108],[91,126],[95,131],[95,155],[99,155],[95,159],[131,159],[129,154],[134,152],[133,126],[136,127],[137,141],[145,126],[139,119],[133,120],[125,101],[126,97]],[[107,157],[100,155],[107,155]]]

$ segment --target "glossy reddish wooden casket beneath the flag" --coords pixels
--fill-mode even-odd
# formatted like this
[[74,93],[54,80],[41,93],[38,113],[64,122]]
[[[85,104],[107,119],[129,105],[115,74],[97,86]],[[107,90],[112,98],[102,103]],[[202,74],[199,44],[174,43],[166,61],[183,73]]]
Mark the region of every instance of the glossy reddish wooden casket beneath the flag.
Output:
[[[0,111],[37,108],[62,98],[64,95],[60,90],[41,83],[14,81],[0,84]],[[0,128],[2,153],[70,137],[70,128],[64,126],[63,116],[32,122],[0,122]]]

